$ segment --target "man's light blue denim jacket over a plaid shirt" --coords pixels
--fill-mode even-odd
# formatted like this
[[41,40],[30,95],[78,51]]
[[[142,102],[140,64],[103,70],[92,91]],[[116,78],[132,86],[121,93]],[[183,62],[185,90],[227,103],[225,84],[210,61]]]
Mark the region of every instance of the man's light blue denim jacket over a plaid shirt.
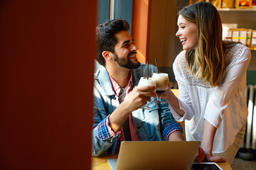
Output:
[[[156,72],[156,67],[149,64],[149,77]],[[138,69],[132,69],[133,86],[137,86],[139,79],[146,76],[146,64],[141,64]],[[106,119],[118,106],[119,101],[114,94],[110,76],[105,67],[97,70],[94,81],[94,109],[92,129],[92,156],[101,154],[114,154],[119,133],[110,135],[107,130]],[[152,101],[156,98],[151,98]],[[176,130],[183,132],[180,124],[176,123],[167,102],[156,104],[149,102],[150,109],[137,109],[132,112],[137,134],[142,141],[168,140],[169,134]]]

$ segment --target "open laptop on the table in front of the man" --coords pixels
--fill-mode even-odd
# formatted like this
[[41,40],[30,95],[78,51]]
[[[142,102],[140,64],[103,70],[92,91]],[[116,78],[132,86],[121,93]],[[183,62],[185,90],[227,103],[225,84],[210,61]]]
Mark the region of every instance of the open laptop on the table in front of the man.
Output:
[[112,170],[191,169],[198,141],[124,141],[118,159],[108,159]]

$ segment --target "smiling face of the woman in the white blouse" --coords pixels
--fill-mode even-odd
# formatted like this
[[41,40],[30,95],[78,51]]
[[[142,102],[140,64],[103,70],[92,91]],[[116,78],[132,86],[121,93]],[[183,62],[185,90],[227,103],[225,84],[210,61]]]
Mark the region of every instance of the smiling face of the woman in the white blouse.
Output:
[[196,23],[186,20],[183,16],[178,16],[178,31],[176,36],[183,45],[183,50],[192,50],[198,45],[198,33]]

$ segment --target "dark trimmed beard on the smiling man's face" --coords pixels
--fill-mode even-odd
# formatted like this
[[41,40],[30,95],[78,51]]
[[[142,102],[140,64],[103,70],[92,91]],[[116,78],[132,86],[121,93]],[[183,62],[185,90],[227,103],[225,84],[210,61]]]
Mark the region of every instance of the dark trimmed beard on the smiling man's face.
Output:
[[[132,55],[134,52],[131,52],[129,55]],[[127,69],[137,69],[140,66],[140,62],[132,62],[129,60],[129,55],[127,56],[127,61],[125,58],[119,58],[115,52],[113,52],[114,55],[114,62],[117,62],[119,66],[122,66]]]

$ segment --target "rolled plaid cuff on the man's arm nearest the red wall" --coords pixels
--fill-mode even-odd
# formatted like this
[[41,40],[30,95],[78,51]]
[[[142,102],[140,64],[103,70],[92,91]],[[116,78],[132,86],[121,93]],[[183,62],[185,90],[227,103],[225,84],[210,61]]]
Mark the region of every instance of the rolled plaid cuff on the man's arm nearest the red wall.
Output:
[[110,120],[109,120],[110,115],[107,116],[102,122],[100,122],[97,125],[97,132],[98,132],[98,137],[100,140],[107,140],[107,138],[113,137],[114,135],[118,134],[121,132],[118,131],[117,133],[112,130],[110,127]]

